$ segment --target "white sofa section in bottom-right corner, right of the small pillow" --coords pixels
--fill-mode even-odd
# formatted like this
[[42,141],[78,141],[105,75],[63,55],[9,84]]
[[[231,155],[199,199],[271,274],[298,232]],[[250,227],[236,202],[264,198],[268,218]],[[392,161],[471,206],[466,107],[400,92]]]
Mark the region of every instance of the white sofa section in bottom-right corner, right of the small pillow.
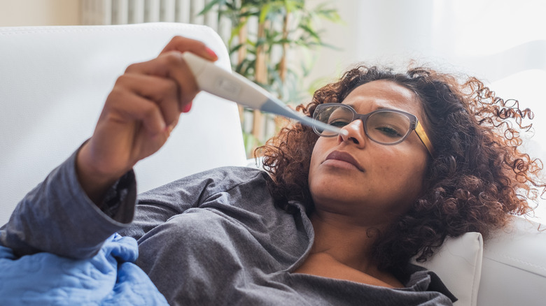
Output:
[[484,241],[477,305],[546,305],[545,230],[514,217]]

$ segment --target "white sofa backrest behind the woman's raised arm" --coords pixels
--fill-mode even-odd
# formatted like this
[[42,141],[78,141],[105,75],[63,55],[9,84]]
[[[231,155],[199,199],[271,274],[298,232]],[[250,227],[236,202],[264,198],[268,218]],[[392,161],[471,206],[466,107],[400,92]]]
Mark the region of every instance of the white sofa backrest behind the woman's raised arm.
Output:
[[[148,23],[0,28],[0,224],[38,182],[92,135],[128,64],[156,57],[175,35],[204,41],[230,69],[209,27]],[[136,167],[139,191],[217,166],[244,166],[237,105],[200,93],[160,152]]]

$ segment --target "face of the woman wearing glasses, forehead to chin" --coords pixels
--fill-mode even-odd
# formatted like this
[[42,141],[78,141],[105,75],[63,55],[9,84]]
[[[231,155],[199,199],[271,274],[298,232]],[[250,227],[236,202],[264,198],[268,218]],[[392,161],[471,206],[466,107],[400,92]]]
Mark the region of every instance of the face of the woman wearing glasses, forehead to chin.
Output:
[[[423,123],[419,99],[388,80],[360,85],[342,101],[366,114],[380,108],[409,112]],[[367,138],[362,120],[344,127],[346,136],[320,137],[309,168],[309,189],[317,212],[353,216],[385,224],[400,216],[419,196],[428,152],[414,131],[397,145]],[[425,127],[426,130],[426,127]]]

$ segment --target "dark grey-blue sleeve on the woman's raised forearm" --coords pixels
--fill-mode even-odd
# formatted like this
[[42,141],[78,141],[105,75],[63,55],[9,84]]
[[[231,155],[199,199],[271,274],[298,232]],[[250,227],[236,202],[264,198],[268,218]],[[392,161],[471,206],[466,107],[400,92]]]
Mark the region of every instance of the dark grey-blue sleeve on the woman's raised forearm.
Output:
[[137,198],[133,171],[108,191],[104,212],[80,187],[76,152],[18,203],[0,243],[18,256],[49,252],[91,258],[113,233],[130,224]]

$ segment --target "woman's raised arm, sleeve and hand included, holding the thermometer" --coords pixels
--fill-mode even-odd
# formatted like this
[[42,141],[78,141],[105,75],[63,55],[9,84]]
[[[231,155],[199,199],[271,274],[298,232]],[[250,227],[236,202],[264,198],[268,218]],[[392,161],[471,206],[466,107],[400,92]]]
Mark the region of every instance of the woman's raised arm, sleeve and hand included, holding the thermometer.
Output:
[[[19,255],[88,258],[130,223],[136,198],[133,166],[165,144],[197,94],[181,57],[185,51],[216,60],[203,43],[177,36],[157,58],[129,66],[106,99],[90,140],[19,203],[1,232],[2,245]],[[130,183],[111,218],[102,212],[111,205],[104,199],[120,178]]]

